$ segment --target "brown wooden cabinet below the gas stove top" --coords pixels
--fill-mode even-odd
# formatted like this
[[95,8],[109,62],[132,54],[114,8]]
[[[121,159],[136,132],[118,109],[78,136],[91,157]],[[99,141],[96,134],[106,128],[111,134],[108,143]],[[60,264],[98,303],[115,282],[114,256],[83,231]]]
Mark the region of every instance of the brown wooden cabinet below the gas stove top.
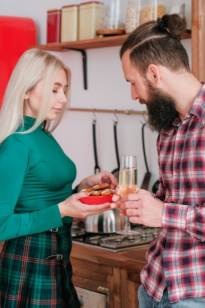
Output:
[[[110,308],[137,308],[140,271],[148,245],[113,253],[73,242],[73,283],[81,288],[108,294]],[[104,291],[100,291],[104,290]]]

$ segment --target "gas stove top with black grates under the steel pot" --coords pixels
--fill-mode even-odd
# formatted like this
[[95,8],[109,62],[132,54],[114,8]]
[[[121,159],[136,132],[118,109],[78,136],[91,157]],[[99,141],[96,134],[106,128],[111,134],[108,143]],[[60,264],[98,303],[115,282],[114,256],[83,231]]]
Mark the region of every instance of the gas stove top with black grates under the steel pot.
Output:
[[74,242],[84,246],[95,246],[99,249],[118,252],[132,249],[134,246],[149,244],[158,234],[158,228],[149,228],[138,225],[132,227],[138,231],[136,235],[118,235],[116,233],[99,234],[87,233],[83,228],[77,231],[77,227],[71,230]]

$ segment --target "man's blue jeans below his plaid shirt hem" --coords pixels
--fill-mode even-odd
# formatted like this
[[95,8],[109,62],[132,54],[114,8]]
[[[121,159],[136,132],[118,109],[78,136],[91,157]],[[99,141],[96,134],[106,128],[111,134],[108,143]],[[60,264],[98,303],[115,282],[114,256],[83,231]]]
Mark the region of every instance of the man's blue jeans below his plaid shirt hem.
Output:
[[138,288],[139,308],[205,308],[205,297],[186,298],[176,304],[170,304],[168,292],[165,290],[160,303],[155,302],[141,284]]

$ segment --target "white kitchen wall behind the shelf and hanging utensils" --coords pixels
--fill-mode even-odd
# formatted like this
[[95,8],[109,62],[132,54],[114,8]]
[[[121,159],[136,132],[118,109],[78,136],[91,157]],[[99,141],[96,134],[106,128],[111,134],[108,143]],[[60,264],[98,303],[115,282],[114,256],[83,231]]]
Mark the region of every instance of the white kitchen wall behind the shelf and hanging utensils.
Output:
[[[78,4],[78,0],[7,0],[1,3],[0,14],[6,16],[30,17],[37,29],[37,43],[46,43],[47,10],[60,8],[63,5]],[[166,0],[167,9],[171,1]],[[181,3],[173,0],[172,3]],[[191,20],[191,0],[186,0],[186,15]],[[189,27],[190,28],[190,27]],[[191,60],[191,40],[182,41]],[[71,107],[96,108],[111,110],[145,110],[138,101],[131,100],[130,86],[124,80],[119,60],[119,47],[89,49],[88,90],[84,90],[82,55],[75,51],[54,52],[62,59],[72,72]],[[191,63],[190,63],[191,64]],[[98,163],[101,170],[112,171],[117,168],[114,145],[114,114],[95,113]],[[117,114],[117,135],[119,155],[136,154],[138,156],[139,186],[146,173],[143,159],[141,127],[144,118],[139,115]],[[74,160],[77,166],[77,178],[74,183],[94,172],[94,151],[92,144],[92,121],[94,115],[88,112],[70,111],[67,117],[54,132],[65,153]],[[145,130],[146,153],[151,180],[149,189],[158,178],[156,138],[157,135]],[[58,168],[57,162],[57,168]]]

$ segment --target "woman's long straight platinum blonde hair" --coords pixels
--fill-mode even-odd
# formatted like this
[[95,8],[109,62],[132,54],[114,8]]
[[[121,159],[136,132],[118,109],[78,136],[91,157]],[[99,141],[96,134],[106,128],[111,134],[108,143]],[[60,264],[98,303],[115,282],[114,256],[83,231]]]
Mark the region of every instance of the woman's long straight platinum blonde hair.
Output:
[[[0,110],[0,144],[20,126],[23,126],[25,94],[32,90],[41,79],[44,82],[44,88],[36,121],[29,130],[19,133],[29,133],[44,122],[50,110],[55,77],[60,68],[64,69],[67,78],[67,103],[63,105],[62,112],[54,121],[50,131],[58,126],[64,112],[69,107],[70,69],[56,56],[38,48],[29,49],[21,56],[11,74]],[[44,124],[44,128],[49,129],[51,122],[47,121]]]

